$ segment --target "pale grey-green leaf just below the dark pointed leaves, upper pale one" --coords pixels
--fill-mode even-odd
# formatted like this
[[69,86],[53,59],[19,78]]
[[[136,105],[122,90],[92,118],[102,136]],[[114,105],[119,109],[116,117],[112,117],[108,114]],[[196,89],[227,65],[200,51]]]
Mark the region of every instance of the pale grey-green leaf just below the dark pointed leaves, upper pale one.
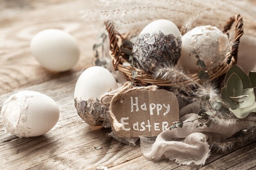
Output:
[[249,106],[252,106],[252,104],[254,104],[255,95],[254,95],[253,88],[247,88],[243,90],[242,95],[245,97],[240,97],[236,99],[238,101],[238,108],[247,108]]

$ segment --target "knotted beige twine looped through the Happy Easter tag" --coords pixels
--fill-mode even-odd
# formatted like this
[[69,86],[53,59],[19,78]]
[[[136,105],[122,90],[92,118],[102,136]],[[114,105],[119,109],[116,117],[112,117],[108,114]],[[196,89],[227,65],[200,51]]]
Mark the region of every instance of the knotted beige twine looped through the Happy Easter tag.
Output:
[[106,116],[108,117],[108,119],[111,119],[112,128],[115,128],[117,132],[122,129],[122,124],[117,121],[113,113],[113,105],[117,100],[121,100],[123,95],[132,91],[141,91],[141,90],[155,91],[156,89],[157,89],[156,85],[137,87],[133,82],[126,82],[121,88],[101,96],[100,104],[103,107],[109,108],[109,113]]

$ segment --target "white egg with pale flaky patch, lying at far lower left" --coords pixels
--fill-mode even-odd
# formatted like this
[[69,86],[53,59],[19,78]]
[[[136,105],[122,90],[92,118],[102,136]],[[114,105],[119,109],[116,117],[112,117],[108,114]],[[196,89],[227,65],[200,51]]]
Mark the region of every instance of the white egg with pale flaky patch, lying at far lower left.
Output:
[[18,137],[40,136],[51,130],[59,118],[53,99],[35,91],[11,95],[2,106],[2,121],[7,130]]

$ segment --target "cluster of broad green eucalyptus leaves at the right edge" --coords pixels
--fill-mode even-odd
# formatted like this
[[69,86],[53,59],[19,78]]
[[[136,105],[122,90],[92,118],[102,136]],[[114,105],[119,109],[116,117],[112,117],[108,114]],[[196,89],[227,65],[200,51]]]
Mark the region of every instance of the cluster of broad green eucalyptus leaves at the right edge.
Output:
[[227,72],[221,97],[236,117],[245,118],[256,112],[255,92],[256,72],[248,76],[239,66],[232,66]]

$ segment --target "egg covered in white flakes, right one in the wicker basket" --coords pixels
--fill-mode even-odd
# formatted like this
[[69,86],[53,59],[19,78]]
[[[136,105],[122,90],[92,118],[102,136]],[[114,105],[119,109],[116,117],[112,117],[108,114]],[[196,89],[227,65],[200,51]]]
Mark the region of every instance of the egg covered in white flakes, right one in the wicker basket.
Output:
[[196,73],[201,69],[197,66],[197,57],[208,67],[215,60],[224,60],[225,55],[222,54],[230,51],[228,46],[228,36],[216,26],[196,26],[182,36],[182,55],[178,64],[189,72]]

